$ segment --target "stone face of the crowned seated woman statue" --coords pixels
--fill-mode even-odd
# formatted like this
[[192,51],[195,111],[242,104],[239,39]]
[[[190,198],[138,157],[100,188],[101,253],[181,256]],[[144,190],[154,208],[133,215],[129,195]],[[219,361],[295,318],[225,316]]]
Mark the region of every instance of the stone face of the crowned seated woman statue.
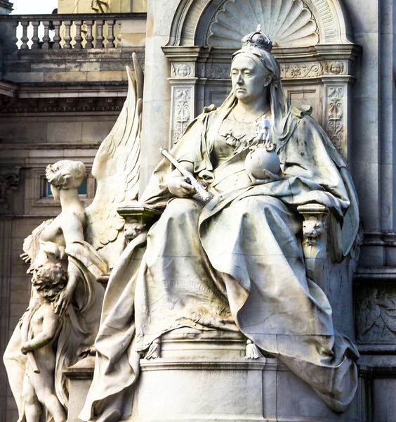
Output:
[[238,101],[254,103],[264,94],[268,85],[265,69],[250,57],[238,55],[232,62],[232,90]]

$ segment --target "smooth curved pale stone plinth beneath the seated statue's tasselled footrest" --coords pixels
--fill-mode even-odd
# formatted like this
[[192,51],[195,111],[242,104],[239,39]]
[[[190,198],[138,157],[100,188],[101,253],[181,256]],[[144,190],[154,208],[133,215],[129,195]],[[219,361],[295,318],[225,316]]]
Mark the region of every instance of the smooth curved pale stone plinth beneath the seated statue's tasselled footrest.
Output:
[[276,358],[161,358],[140,365],[129,421],[370,420],[363,378],[349,409],[337,414]]

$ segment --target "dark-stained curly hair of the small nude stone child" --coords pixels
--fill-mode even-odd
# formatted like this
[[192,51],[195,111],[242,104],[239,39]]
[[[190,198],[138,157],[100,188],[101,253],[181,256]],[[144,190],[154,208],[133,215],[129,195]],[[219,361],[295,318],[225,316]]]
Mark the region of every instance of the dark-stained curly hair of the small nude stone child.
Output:
[[53,302],[67,285],[67,272],[61,264],[41,265],[32,277],[32,284],[41,296]]

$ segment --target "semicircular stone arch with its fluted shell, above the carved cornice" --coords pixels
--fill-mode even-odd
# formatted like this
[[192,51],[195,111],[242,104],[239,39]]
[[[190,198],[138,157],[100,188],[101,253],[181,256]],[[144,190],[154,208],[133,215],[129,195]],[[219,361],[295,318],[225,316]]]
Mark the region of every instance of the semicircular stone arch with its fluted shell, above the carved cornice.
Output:
[[237,48],[258,24],[275,46],[353,43],[343,0],[182,0],[168,45]]

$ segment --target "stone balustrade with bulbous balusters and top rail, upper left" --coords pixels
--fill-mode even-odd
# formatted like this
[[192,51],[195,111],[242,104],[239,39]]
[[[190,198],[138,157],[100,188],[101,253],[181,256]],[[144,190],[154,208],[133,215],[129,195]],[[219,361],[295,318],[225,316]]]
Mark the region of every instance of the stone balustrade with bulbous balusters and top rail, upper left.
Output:
[[122,23],[145,19],[146,13],[0,15],[20,50],[115,49],[122,45]]

